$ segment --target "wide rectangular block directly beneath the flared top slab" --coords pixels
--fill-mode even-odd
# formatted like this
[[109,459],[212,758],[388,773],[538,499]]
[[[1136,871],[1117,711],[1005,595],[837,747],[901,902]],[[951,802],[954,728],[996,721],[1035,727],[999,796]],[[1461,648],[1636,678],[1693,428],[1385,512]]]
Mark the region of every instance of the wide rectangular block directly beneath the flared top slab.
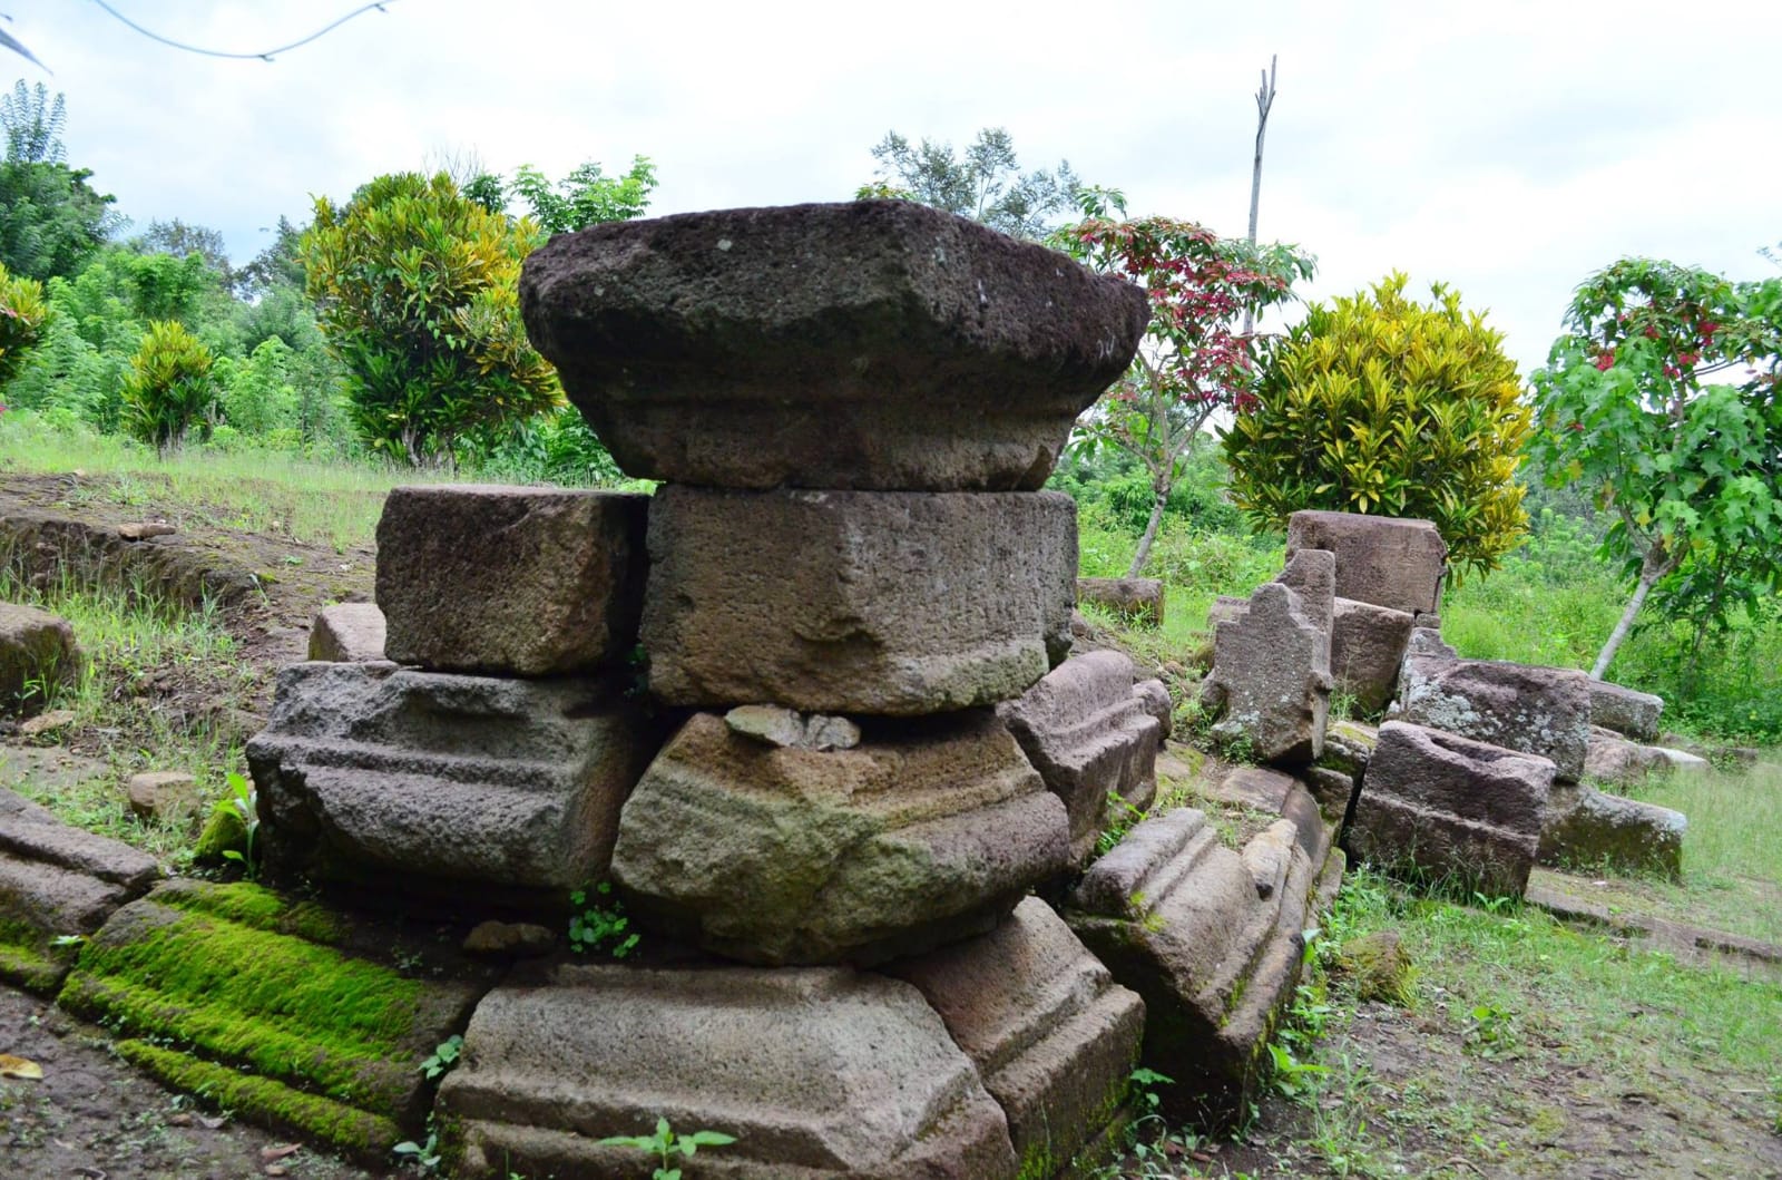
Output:
[[1059,492],[720,492],[650,508],[643,647],[679,706],[944,713],[1019,697],[1071,643]]

